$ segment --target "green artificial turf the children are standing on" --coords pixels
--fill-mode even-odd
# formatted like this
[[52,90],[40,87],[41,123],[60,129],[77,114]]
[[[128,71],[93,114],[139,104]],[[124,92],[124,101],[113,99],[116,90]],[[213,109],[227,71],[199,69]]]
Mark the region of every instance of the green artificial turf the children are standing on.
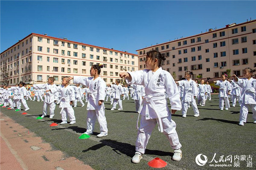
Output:
[[[74,107],[76,124],[60,125],[60,108],[56,105],[53,119],[45,117],[37,120],[42,115],[43,102],[27,101],[30,110],[28,115],[21,115],[23,111],[15,112],[1,108],[1,112],[11,117],[17,123],[42,137],[45,142],[52,144],[55,149],[61,150],[67,156],[74,156],[96,170],[137,170],[154,169],[148,166],[148,161],[159,157],[168,163],[162,169],[222,169],[223,167],[209,167],[209,164],[232,164],[234,160],[222,163],[209,163],[216,153],[215,160],[219,161],[232,155],[245,155],[252,157],[253,168],[247,167],[247,161],[239,161],[240,168],[255,169],[256,167],[256,124],[253,124],[252,111],[249,110],[247,123],[244,127],[239,123],[239,104],[229,110],[221,111],[218,107],[218,96],[212,95],[211,101],[206,101],[206,106],[198,106],[200,116],[194,117],[190,107],[187,117],[181,117],[181,111],[172,115],[176,122],[176,130],[182,144],[183,158],[181,161],[172,161],[173,150],[163,133],[155,127],[149,139],[144,158],[138,164],[131,163],[135,153],[137,138],[137,117],[133,100],[122,102],[123,110],[111,111],[110,102],[105,102],[105,115],[108,123],[108,136],[96,138],[99,134],[99,123],[96,122],[95,130],[90,138],[79,139],[81,133],[86,131],[86,107]],[[79,105],[81,106],[81,105]],[[169,105],[170,107],[170,105]],[[119,108],[117,106],[117,108]],[[68,120],[69,121],[69,120]],[[52,123],[58,126],[49,127]],[[198,154],[207,156],[208,162],[198,166],[195,158]],[[201,157],[203,158],[203,157]]]

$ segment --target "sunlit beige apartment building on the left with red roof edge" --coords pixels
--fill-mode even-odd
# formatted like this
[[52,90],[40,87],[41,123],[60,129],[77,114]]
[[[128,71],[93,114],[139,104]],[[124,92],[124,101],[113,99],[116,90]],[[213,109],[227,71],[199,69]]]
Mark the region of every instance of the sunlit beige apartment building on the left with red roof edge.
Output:
[[119,72],[138,70],[137,55],[32,33],[1,52],[0,83],[46,83],[50,76],[60,84],[64,76],[90,76],[93,64],[103,64],[101,76],[115,82]]

